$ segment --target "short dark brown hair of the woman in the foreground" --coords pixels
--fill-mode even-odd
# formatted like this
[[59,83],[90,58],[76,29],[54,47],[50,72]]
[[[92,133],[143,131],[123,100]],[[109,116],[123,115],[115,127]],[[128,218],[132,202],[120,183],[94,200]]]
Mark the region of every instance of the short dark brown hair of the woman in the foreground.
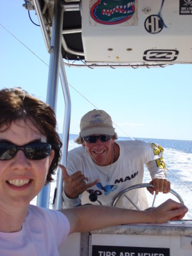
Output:
[[[52,108],[21,88],[4,88],[0,90],[0,132],[9,129],[12,122],[22,119],[30,120],[33,125],[47,138],[54,150],[46,184],[51,182],[52,175],[61,156],[61,140],[56,131],[56,116]],[[2,128],[5,128],[2,130]]]

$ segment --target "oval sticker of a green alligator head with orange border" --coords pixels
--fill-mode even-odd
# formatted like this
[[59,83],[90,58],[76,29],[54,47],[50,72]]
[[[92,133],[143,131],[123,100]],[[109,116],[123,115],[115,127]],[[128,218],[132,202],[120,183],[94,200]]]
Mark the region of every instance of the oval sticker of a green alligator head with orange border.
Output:
[[134,0],[98,0],[90,14],[100,24],[113,25],[129,20],[134,10]]

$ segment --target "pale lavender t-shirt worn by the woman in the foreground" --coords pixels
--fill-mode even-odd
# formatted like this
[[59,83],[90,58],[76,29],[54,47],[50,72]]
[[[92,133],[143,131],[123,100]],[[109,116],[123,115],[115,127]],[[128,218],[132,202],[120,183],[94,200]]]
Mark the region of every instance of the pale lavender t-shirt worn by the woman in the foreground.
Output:
[[69,232],[70,224],[63,213],[30,205],[22,230],[0,232],[0,255],[59,256]]

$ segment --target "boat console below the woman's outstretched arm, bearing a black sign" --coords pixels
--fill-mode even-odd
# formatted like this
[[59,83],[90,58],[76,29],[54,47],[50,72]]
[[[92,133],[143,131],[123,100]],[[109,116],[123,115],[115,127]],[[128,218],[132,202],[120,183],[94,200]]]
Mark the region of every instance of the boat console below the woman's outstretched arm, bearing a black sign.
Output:
[[131,224],[72,234],[63,244],[65,256],[191,256],[192,221]]

